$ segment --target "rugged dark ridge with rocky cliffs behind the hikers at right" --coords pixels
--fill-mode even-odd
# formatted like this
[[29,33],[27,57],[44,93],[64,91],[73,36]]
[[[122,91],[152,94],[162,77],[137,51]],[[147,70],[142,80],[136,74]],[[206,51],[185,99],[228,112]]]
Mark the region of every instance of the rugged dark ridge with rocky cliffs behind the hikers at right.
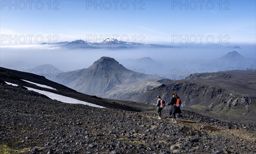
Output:
[[156,95],[171,101],[177,92],[186,109],[222,120],[256,123],[256,74],[232,70],[222,73],[192,74],[188,80],[170,81],[144,92],[134,101],[154,102]]

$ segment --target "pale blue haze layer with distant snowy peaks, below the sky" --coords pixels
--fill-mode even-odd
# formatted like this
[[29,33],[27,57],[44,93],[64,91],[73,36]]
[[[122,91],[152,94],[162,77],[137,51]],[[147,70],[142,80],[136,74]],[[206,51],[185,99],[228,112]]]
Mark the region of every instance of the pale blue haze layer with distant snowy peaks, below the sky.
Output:
[[[87,68],[100,57],[108,56],[118,60],[129,70],[142,69],[145,74],[157,74],[170,79],[183,79],[190,73],[206,72],[207,70],[219,71],[220,69],[245,70],[250,65],[253,65],[250,62],[248,64],[243,62],[244,66],[237,65],[243,59],[235,60],[232,63],[221,62],[222,64],[215,65],[221,56],[233,50],[244,56],[246,58],[244,61],[248,61],[248,58],[256,57],[255,45],[155,45],[142,42],[125,42],[117,39],[105,39],[99,43],[77,39],[72,42],[52,44],[1,46],[0,65],[10,69],[26,70],[42,64],[52,64],[58,69],[67,72]],[[152,60],[151,62],[146,62],[144,59],[146,57],[155,62]],[[127,59],[137,59],[137,62],[129,62]],[[23,64],[20,61],[23,61]],[[236,62],[237,64],[235,64]],[[232,67],[232,64],[239,66],[239,68]],[[156,68],[156,66],[159,67]]]

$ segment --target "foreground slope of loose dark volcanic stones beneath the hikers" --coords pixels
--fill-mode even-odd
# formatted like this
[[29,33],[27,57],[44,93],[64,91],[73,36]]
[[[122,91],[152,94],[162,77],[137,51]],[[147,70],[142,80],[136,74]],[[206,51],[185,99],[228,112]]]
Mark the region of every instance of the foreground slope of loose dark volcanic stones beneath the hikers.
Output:
[[130,112],[66,104],[0,84],[0,153],[253,154],[256,126],[183,110],[173,124],[163,110]]

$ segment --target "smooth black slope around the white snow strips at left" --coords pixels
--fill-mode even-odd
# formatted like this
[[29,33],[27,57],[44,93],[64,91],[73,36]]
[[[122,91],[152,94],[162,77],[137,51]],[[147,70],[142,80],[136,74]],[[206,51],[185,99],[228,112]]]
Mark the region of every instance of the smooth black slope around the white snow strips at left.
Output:
[[[44,88],[44,87],[38,87],[35,84],[31,84],[23,80],[53,87],[55,90]],[[133,101],[108,100],[108,99],[99,98],[95,95],[94,96],[86,95],[81,92],[77,92],[76,90],[65,87],[64,85],[50,81],[46,79],[44,76],[38,76],[33,73],[25,73],[17,70],[10,70],[10,69],[0,67],[0,82],[5,83],[4,81],[12,84],[34,88],[37,90],[52,92],[58,95],[67,96],[80,101],[86,101],[86,102],[96,104],[99,106],[104,106],[107,108],[124,109],[124,110],[130,110],[130,111],[141,111],[144,109],[146,110],[148,108],[148,106],[145,106],[145,104],[139,104]],[[129,107],[130,105],[134,105],[136,107],[131,108]]]

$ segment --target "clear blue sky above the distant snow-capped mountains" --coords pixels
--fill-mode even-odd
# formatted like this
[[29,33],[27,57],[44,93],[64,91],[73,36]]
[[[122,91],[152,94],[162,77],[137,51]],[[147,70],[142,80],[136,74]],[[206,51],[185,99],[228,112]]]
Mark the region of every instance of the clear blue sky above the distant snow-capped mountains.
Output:
[[256,42],[255,0],[1,0],[0,4],[1,44],[8,43],[10,35],[26,40],[28,35],[32,40],[41,35],[44,42],[99,42],[108,36],[146,44]]

